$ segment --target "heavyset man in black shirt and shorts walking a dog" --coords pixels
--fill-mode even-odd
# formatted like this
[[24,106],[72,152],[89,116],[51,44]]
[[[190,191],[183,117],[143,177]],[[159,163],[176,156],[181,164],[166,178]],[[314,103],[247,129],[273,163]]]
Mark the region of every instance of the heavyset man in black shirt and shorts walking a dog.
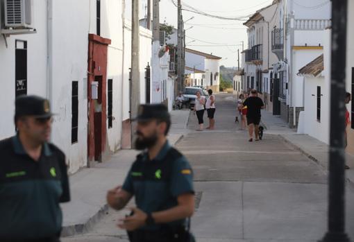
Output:
[[264,108],[264,103],[261,98],[257,96],[257,90],[251,90],[251,96],[247,98],[244,103],[244,107],[247,106],[247,125],[249,139],[248,141],[253,141],[253,130],[255,132],[255,141],[258,141],[258,128],[260,126],[260,110]]

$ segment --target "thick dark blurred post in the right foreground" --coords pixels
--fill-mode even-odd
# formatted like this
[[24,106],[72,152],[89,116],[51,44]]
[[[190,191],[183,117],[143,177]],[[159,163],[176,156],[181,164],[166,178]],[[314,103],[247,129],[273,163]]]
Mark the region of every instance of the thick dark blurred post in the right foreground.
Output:
[[345,226],[346,26],[348,1],[332,1],[328,232],[321,242],[350,242]]

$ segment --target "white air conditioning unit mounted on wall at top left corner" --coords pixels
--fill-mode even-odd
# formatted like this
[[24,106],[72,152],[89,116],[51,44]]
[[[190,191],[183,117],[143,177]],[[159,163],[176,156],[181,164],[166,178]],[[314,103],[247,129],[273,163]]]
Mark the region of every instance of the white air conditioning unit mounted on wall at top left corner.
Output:
[[31,28],[31,0],[4,0],[5,27]]

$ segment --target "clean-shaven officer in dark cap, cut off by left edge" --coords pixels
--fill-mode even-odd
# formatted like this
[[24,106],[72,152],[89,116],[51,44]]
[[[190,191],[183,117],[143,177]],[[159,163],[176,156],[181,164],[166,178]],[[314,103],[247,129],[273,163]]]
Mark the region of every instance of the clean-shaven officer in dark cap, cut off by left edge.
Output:
[[19,96],[17,135],[0,141],[0,241],[57,242],[68,202],[65,155],[50,144],[49,101]]

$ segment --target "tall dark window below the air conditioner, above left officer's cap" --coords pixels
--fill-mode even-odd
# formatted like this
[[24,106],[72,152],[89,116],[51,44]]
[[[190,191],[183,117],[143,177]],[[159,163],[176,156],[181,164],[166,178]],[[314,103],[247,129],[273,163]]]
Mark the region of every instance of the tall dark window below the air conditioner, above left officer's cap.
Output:
[[15,96],[27,94],[27,42],[15,42]]

